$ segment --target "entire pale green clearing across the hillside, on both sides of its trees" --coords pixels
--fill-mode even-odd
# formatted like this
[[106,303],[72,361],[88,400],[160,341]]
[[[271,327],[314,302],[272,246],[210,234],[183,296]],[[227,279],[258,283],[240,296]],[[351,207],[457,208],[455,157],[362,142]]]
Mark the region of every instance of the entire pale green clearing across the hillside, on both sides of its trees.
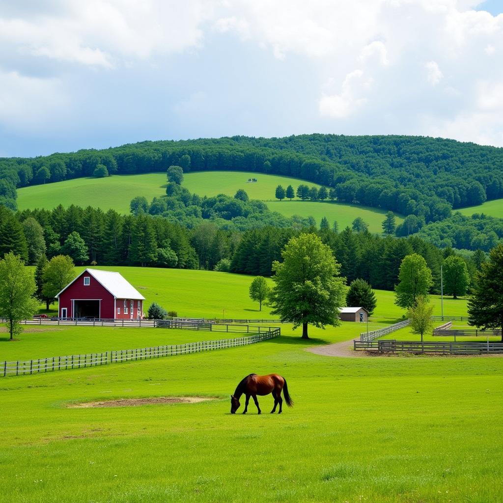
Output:
[[[248,178],[258,178],[257,183],[247,183]],[[245,172],[200,172],[184,175],[184,187],[201,196],[228,194],[233,196],[237,189],[244,189],[251,199],[265,201],[272,211],[285,216],[312,216],[319,225],[326,216],[330,224],[337,220],[343,229],[358,216],[368,224],[371,232],[381,232],[381,223],[385,211],[366,206],[316,201],[278,201],[274,198],[277,185],[286,187],[291,184],[296,190],[301,184],[312,184],[303,180]],[[86,207],[99,206],[103,210],[115,209],[129,213],[129,202],[135,196],[144,196],[151,201],[154,196],[165,195],[166,176],[164,173],[143,175],[114,175],[107,178],[78,178],[53,184],[24,187],[18,190],[18,208],[48,208],[58,204],[69,206],[75,204]],[[397,223],[403,219],[397,215]]]

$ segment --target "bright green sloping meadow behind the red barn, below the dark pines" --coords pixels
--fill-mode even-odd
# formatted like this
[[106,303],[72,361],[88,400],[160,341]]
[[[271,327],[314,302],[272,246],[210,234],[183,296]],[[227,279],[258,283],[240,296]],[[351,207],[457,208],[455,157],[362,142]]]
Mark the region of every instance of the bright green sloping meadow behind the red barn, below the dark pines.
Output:
[[[80,273],[84,267],[76,267]],[[96,269],[117,271],[126,278],[146,299],[144,311],[155,301],[169,311],[176,311],[182,317],[271,319],[270,307],[253,302],[248,289],[253,276],[219,273],[216,271],[196,271],[184,269],[159,269],[149,267],[102,266]],[[272,286],[273,281],[267,280]],[[405,310],[394,304],[394,292],[375,290],[377,308],[374,318],[389,324],[389,320],[401,318]],[[441,314],[440,296],[432,295],[434,314]],[[51,305],[51,311],[57,304]],[[42,309],[40,312],[45,312]],[[445,316],[466,315],[466,299],[444,297]]]

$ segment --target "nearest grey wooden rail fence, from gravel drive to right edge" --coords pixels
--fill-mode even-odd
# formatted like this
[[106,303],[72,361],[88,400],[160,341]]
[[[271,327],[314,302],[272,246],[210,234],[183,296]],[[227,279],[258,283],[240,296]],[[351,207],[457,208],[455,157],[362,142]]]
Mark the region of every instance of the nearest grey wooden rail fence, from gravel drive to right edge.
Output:
[[438,342],[438,341],[354,341],[355,351],[377,353],[436,353],[443,355],[481,355],[503,353],[500,342]]

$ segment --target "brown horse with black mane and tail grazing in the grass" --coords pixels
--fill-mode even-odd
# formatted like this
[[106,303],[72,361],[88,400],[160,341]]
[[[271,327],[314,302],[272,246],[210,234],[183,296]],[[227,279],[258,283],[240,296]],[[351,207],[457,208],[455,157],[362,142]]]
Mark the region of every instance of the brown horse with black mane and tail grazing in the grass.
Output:
[[268,395],[273,394],[274,397],[274,407],[271,410],[271,414],[276,412],[276,405],[280,405],[280,410],[278,414],[281,414],[281,406],[283,405],[283,398],[281,398],[281,391],[285,395],[286,403],[289,407],[293,405],[292,398],[288,394],[288,386],[286,384],[286,379],[278,374],[269,374],[267,376],[258,376],[257,374],[250,374],[246,376],[236,387],[233,395],[230,395],[230,413],[235,414],[236,410],[240,407],[239,397],[241,395],[246,396],[246,402],[244,404],[243,414],[248,410],[248,401],[250,396],[253,396],[255,405],[259,410],[259,414],[262,413],[259,407],[259,401],[257,400],[257,395]]

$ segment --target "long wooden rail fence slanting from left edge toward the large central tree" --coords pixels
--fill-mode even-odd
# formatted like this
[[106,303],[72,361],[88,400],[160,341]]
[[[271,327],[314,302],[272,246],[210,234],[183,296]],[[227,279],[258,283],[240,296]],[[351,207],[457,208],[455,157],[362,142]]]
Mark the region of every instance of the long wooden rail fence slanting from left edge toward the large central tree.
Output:
[[88,355],[56,356],[36,360],[3,362],[0,363],[0,377],[53,372],[55,370],[96,367],[98,365],[109,365],[112,363],[148,360],[151,358],[162,358],[166,356],[201,353],[203,351],[213,351],[217,349],[235,348],[237,346],[248,346],[250,344],[267,341],[268,339],[274,339],[280,335],[280,328],[271,327],[269,331],[258,330],[253,335],[238,337],[235,339],[222,339],[220,341],[202,341],[171,346],[156,346],[152,348],[106,351],[104,353],[91,353]]

